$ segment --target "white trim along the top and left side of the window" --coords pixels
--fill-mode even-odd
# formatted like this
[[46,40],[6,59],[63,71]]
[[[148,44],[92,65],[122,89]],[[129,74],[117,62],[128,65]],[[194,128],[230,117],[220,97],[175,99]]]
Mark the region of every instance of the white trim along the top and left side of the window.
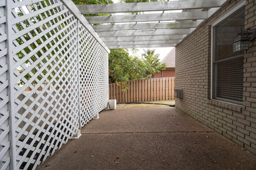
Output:
[[[216,100],[216,99],[212,99],[212,95],[213,95],[213,28],[214,26],[216,26],[217,24],[219,24],[220,22],[222,22],[224,19],[226,19],[228,16],[230,16],[231,14],[233,14],[234,12],[236,12],[237,10],[239,10],[240,8],[242,8],[243,6],[245,6],[245,2],[246,0],[241,0],[240,2],[238,2],[236,5],[234,5],[232,8],[230,8],[227,12],[225,12],[224,14],[222,14],[222,16],[218,17],[216,20],[214,20],[214,22],[212,22],[210,24],[211,26],[211,100]],[[218,100],[216,100],[218,101]],[[224,102],[224,101],[222,101]],[[225,102],[228,103],[228,102]],[[232,103],[234,104],[234,103]],[[237,104],[234,104],[237,105]]]

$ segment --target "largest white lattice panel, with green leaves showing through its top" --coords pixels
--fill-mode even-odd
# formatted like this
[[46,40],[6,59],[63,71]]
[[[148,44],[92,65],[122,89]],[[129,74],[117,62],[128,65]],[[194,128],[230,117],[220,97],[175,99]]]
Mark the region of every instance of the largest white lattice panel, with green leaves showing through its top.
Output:
[[28,170],[78,131],[77,19],[57,0],[16,2],[16,167]]

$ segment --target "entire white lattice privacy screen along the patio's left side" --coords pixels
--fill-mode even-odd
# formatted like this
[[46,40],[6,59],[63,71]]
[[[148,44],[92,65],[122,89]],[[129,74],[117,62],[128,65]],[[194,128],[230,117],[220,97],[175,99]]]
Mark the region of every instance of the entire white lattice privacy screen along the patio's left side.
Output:
[[35,169],[108,103],[108,52],[71,0],[0,1],[0,169]]

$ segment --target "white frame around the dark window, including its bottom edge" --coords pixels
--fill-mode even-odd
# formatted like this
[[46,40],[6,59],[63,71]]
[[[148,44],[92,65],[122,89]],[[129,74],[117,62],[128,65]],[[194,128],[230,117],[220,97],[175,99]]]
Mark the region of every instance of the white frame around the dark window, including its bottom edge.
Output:
[[[232,100],[226,100],[226,99],[222,99],[222,98],[218,98],[215,97],[216,96],[216,77],[217,74],[213,74],[214,71],[214,63],[218,62],[214,62],[214,47],[216,46],[214,43],[214,27],[216,25],[218,25],[220,22],[222,22],[223,20],[225,20],[226,18],[228,18],[230,15],[234,14],[234,12],[236,12],[237,10],[239,10],[240,8],[243,8],[245,6],[245,2],[246,0],[241,0],[240,2],[238,2],[236,5],[234,5],[232,8],[230,8],[227,12],[225,12],[224,14],[222,14],[222,16],[218,17],[214,22],[212,22],[210,24],[211,26],[211,94],[210,94],[210,99],[211,100],[217,100],[217,101],[222,101],[222,102],[226,102],[226,103],[232,103],[235,105],[242,105],[242,102],[234,102]],[[239,56],[236,56],[236,58],[238,58]],[[216,65],[215,65],[216,67]],[[216,68],[215,68],[216,70]],[[214,77],[215,75],[215,77]],[[233,103],[234,102],[234,103]]]

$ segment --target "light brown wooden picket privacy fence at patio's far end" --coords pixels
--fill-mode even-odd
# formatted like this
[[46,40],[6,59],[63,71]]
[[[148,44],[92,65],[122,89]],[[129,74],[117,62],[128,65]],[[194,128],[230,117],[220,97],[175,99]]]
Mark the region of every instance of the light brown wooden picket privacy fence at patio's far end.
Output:
[[175,77],[140,79],[127,83],[130,87],[125,92],[115,83],[109,84],[109,99],[116,99],[117,102],[174,100]]

